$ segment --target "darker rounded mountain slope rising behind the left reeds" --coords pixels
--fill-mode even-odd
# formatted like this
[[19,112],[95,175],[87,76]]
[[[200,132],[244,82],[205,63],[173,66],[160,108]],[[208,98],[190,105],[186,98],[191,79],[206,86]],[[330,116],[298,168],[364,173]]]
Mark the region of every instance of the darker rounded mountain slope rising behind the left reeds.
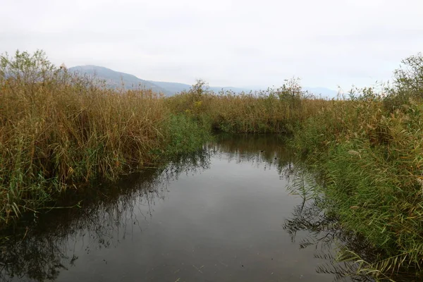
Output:
[[135,75],[120,73],[118,71],[113,71],[110,68],[104,68],[102,66],[74,66],[69,68],[68,71],[79,73],[81,75],[90,75],[101,80],[106,80],[106,84],[112,88],[120,88],[122,86],[125,89],[145,88],[151,89],[154,92],[161,92],[166,96],[170,96],[172,94],[171,92],[168,92],[164,88],[161,88],[152,82],[137,78]]

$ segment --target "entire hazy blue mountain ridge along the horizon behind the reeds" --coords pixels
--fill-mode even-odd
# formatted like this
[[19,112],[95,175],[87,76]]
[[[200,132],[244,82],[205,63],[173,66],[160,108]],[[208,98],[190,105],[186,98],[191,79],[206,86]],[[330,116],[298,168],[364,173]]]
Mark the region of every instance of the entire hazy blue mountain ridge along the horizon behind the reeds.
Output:
[[[74,73],[80,73],[81,75],[90,75],[101,80],[106,80],[106,84],[112,88],[121,88],[122,86],[125,89],[137,89],[137,88],[147,88],[151,89],[154,92],[161,92],[166,96],[172,96],[176,93],[188,91],[192,87],[192,85],[188,85],[185,83],[179,82],[162,82],[162,81],[154,81],[154,80],[142,80],[137,78],[135,75],[131,75],[129,73],[121,73],[118,71],[113,71],[110,68],[104,68],[102,66],[74,66],[69,68],[68,71]],[[266,89],[267,87],[263,87]],[[312,94],[321,94],[323,97],[336,97],[337,92],[335,90],[331,90],[324,87],[304,87],[304,90],[311,92]],[[214,92],[223,91],[231,91],[235,93],[240,92],[250,92],[255,91],[256,89],[250,89],[247,87],[216,87],[211,86],[209,90]]]

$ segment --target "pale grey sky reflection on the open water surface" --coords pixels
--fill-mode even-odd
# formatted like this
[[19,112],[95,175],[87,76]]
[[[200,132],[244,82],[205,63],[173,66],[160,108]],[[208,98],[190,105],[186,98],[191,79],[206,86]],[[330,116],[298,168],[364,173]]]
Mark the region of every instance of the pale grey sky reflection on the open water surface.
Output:
[[314,250],[299,250],[282,228],[299,200],[276,167],[228,157],[171,182],[151,217],[136,207],[125,238],[109,234],[120,241],[111,247],[88,235],[70,244],[78,259],[58,281],[330,281],[315,272]]

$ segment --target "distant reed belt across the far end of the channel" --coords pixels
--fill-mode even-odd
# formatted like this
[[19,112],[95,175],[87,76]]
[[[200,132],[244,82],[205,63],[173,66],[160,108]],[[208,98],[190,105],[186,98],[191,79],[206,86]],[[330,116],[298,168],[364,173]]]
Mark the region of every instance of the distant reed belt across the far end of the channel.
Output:
[[240,94],[211,92],[200,80],[190,91],[170,97],[167,102],[171,111],[226,133],[292,133],[293,128],[329,103],[303,92],[298,80],[290,80],[278,89]]

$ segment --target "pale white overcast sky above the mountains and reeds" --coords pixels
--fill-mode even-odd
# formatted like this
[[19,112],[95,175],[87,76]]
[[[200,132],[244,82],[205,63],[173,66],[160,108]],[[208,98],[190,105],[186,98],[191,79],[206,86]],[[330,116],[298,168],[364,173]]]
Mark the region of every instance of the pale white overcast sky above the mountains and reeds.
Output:
[[423,51],[422,0],[0,0],[0,53],[145,80],[372,85]]

